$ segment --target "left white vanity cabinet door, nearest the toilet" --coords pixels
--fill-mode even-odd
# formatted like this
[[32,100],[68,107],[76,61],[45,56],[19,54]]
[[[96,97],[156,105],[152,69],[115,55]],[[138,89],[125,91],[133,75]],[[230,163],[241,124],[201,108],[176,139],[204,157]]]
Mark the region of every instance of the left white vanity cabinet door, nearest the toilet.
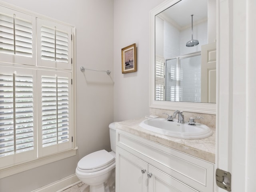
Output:
[[116,192],[147,192],[147,166],[146,162],[116,147]]

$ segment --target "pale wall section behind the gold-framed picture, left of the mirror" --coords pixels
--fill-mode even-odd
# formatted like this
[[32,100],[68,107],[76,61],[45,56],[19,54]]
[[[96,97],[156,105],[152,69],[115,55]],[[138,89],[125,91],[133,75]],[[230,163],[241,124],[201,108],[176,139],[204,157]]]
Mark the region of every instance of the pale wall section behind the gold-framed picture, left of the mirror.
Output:
[[[149,114],[150,10],[164,0],[114,0],[114,120]],[[122,74],[121,49],[136,43],[137,72]]]

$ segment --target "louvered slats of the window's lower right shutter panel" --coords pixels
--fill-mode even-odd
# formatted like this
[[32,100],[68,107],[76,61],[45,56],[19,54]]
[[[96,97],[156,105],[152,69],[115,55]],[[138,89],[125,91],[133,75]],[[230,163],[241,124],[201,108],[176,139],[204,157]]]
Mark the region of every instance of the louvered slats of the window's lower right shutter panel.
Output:
[[70,141],[69,79],[42,76],[42,147]]

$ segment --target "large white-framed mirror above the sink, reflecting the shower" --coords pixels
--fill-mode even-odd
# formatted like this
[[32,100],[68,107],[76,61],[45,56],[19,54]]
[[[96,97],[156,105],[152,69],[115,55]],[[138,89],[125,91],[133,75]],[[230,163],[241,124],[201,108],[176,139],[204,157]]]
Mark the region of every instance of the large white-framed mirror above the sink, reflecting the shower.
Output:
[[215,114],[215,9],[216,0],[169,0],[152,10],[151,107]]

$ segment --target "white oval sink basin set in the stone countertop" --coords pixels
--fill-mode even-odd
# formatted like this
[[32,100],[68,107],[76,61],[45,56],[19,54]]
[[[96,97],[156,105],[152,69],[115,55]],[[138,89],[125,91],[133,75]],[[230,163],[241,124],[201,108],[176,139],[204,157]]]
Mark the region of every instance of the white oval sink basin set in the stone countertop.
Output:
[[140,123],[140,127],[159,134],[182,138],[182,139],[203,139],[210,137],[212,130],[203,124],[188,125],[187,122],[180,124],[177,120],[168,121],[166,118],[152,118]]

